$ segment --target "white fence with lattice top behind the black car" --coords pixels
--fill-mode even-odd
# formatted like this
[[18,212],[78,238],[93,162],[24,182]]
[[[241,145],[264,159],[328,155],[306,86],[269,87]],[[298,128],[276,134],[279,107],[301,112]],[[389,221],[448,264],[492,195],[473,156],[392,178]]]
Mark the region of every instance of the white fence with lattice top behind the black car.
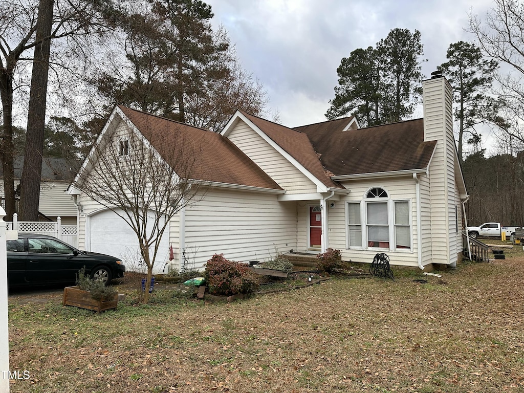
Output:
[[18,214],[13,215],[13,221],[6,222],[8,231],[38,233],[40,235],[54,236],[65,243],[78,247],[77,225],[62,225],[62,220],[57,221],[18,221]]

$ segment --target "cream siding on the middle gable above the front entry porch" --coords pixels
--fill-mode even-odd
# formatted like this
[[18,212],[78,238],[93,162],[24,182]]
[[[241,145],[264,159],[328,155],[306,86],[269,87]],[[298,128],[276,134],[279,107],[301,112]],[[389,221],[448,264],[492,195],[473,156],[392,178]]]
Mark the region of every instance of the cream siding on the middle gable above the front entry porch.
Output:
[[316,185],[311,180],[243,121],[238,121],[227,137],[286,193],[316,192]]

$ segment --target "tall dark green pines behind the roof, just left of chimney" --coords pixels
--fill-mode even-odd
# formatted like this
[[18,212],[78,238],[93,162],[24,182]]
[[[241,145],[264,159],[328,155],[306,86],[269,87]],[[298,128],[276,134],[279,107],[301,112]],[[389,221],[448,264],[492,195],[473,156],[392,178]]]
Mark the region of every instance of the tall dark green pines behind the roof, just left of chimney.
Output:
[[369,126],[410,116],[419,100],[422,54],[420,32],[398,28],[376,48],[354,50],[337,69],[339,86],[326,117],[352,114]]

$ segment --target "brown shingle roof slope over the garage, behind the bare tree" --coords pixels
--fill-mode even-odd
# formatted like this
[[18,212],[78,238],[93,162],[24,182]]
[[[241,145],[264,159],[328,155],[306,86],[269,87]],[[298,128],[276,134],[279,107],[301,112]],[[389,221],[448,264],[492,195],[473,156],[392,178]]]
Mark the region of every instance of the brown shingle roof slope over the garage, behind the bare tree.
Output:
[[198,155],[190,178],[282,190],[226,137],[125,106],[118,108],[180,176],[186,176],[181,172],[185,170],[183,161],[187,161],[180,157]]

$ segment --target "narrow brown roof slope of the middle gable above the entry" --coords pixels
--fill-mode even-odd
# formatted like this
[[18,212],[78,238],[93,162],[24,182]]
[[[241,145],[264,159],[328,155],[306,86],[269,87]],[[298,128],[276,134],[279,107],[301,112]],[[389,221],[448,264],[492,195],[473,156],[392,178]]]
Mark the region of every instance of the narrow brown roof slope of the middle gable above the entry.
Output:
[[263,118],[250,115],[244,111],[240,112],[291,157],[297,160],[307,171],[313,174],[315,178],[319,179],[326,187],[343,188],[340,184],[326,176],[322,163],[315,154],[315,150],[313,150],[307,135]]

